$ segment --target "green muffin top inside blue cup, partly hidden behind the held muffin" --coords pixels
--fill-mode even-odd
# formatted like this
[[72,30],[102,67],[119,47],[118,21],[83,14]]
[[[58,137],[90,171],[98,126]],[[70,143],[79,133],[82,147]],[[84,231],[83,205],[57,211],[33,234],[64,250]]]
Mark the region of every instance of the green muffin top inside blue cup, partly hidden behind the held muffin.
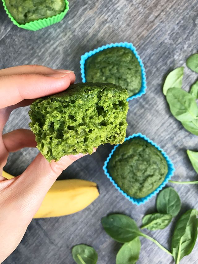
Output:
[[141,67],[135,54],[125,47],[112,47],[85,60],[87,82],[114,83],[127,89],[129,97],[142,85]]

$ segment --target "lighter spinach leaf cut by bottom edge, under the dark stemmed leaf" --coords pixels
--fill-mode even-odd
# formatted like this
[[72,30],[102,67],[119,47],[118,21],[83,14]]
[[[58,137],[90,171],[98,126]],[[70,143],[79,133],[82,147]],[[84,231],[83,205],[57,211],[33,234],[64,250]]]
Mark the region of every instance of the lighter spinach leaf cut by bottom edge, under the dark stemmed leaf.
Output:
[[116,255],[116,264],[135,264],[139,258],[141,249],[140,238],[125,243]]

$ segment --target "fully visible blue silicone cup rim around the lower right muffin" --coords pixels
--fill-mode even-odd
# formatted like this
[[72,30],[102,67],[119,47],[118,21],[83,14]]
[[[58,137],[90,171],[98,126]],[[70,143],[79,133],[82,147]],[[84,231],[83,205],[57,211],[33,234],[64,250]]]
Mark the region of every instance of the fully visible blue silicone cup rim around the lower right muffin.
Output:
[[146,137],[145,135],[142,135],[141,133],[138,133],[138,134],[133,134],[132,136],[129,136],[129,137],[126,137],[124,141],[126,140],[129,140],[131,138],[134,138],[134,137],[141,137],[143,138],[145,141],[149,142],[151,145],[155,146],[156,149],[158,149],[161,154],[164,156],[164,158],[166,159],[166,162],[167,162],[167,165],[168,165],[168,173],[166,174],[166,177],[164,179],[164,181],[157,187],[157,189],[155,191],[153,191],[152,193],[150,193],[149,195],[143,197],[143,198],[134,198],[134,197],[131,197],[129,196],[127,193],[125,193],[119,186],[118,184],[115,183],[115,181],[113,180],[113,178],[111,177],[111,175],[109,174],[108,172],[108,169],[107,169],[107,165],[108,165],[108,162],[110,161],[110,158],[112,157],[112,155],[114,154],[114,151],[115,149],[120,145],[116,145],[114,147],[114,149],[112,149],[109,157],[106,159],[105,161],[105,164],[103,166],[103,170],[105,171],[105,174],[107,175],[107,178],[109,178],[109,180],[113,183],[113,185],[115,186],[115,188],[120,192],[122,193],[129,201],[131,201],[133,204],[136,204],[136,205],[141,205],[141,204],[144,204],[145,202],[149,201],[149,199],[151,197],[153,197],[154,195],[156,195],[157,193],[159,193],[159,191],[161,191],[161,189],[168,183],[168,181],[171,179],[171,177],[173,176],[174,174],[174,165],[173,163],[171,162],[170,158],[167,156],[166,152],[163,151],[163,149],[161,149],[156,143],[154,143],[152,140],[150,140],[148,137]]

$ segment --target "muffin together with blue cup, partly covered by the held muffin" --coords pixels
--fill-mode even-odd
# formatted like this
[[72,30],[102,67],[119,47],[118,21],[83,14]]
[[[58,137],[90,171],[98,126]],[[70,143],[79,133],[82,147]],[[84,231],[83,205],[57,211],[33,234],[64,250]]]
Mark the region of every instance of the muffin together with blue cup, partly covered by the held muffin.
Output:
[[144,65],[132,43],[111,43],[86,52],[80,68],[83,82],[119,84],[128,91],[127,100],[146,92]]

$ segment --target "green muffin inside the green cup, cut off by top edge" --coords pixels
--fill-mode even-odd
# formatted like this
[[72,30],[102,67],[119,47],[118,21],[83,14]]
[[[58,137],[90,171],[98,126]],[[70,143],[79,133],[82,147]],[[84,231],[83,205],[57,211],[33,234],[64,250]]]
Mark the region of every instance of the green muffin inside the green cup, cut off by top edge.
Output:
[[19,24],[60,14],[65,0],[5,0],[6,7]]

